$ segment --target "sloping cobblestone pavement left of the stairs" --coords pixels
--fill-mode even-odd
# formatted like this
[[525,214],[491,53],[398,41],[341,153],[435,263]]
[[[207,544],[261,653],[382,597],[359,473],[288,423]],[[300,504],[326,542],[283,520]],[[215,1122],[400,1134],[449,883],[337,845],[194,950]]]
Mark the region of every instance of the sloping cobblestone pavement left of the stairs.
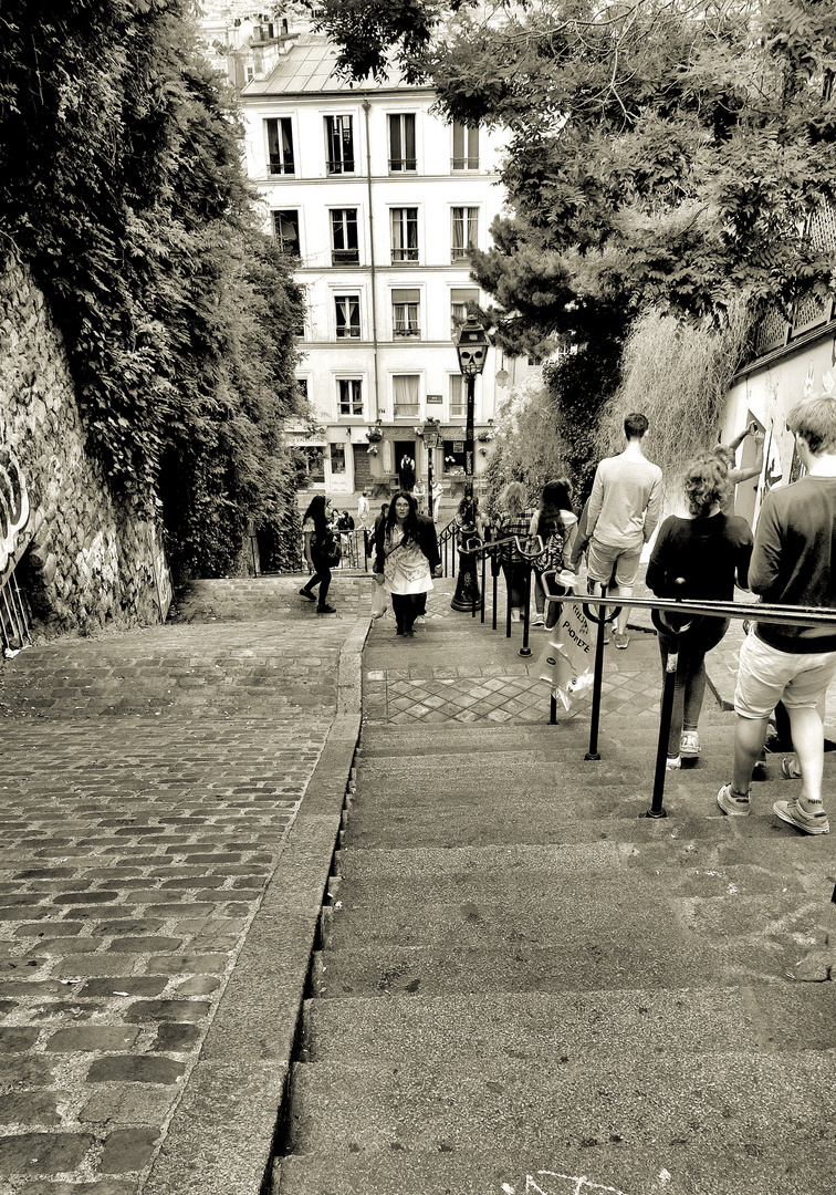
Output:
[[[236,998],[233,975],[253,972],[294,827],[313,833],[300,809],[370,584],[340,577],[339,614],[318,618],[299,583],[204,583],[165,627],[53,641],[0,673],[2,1195],[258,1190],[311,949],[296,907],[273,899],[285,936],[300,931],[289,991],[281,927],[254,968],[281,989],[284,1024],[262,1000],[278,1043],[250,1042],[252,991]],[[226,1158],[207,1151],[225,1132],[213,1084],[236,1136]],[[245,1140],[254,1162],[230,1162]]]

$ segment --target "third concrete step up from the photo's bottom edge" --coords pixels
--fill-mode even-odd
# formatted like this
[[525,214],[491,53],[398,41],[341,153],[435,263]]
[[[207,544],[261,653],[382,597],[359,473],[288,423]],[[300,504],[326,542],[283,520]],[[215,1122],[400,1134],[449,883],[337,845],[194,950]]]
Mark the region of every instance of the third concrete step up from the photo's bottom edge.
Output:
[[534,1062],[805,1046],[836,1047],[828,985],[306,1000],[299,1061],[414,1064],[498,1056]]

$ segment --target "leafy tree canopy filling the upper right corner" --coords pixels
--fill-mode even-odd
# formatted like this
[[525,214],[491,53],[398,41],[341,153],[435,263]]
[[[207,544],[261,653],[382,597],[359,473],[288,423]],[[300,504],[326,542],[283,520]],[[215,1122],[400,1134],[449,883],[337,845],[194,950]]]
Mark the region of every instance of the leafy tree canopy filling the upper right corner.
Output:
[[607,337],[648,305],[721,323],[742,287],[757,308],[831,286],[803,229],[836,179],[832,5],[426,0],[423,45],[374,25],[389,0],[362,7],[358,71],[376,37],[448,117],[510,130],[514,220],[474,259],[508,351]]

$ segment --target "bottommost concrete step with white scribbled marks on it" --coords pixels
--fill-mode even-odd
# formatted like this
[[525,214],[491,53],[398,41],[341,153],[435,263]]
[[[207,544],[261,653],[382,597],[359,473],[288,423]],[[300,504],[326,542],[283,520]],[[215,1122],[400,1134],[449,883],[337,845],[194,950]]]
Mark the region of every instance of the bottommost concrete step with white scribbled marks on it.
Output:
[[[688,1135],[690,1136],[690,1130]],[[682,1139],[682,1138],[681,1138]],[[672,1144],[625,1150],[622,1142],[551,1148],[361,1150],[288,1157],[273,1195],[830,1195],[836,1162],[815,1144],[706,1148]]]

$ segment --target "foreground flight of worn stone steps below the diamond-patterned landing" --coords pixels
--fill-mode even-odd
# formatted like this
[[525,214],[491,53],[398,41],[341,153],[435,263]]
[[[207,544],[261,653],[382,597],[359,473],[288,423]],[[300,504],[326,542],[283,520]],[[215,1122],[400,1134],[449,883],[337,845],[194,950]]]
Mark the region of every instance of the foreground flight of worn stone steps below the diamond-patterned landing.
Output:
[[720,814],[729,713],[658,821],[654,729],[585,736],[367,724],[272,1195],[836,1190],[831,840],[779,760]]

